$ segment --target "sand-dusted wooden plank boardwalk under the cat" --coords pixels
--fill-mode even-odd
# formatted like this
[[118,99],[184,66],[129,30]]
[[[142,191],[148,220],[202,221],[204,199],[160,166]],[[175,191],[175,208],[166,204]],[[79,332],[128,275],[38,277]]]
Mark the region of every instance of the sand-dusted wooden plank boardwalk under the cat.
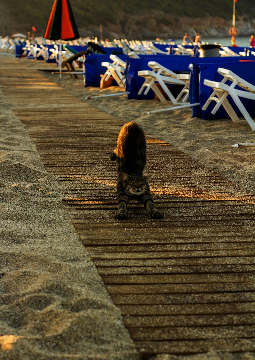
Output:
[[110,153],[123,122],[40,72],[1,65],[0,85],[26,125],[124,322],[154,354],[255,352],[255,195],[146,134],[145,174],[164,220],[131,203],[116,214]]

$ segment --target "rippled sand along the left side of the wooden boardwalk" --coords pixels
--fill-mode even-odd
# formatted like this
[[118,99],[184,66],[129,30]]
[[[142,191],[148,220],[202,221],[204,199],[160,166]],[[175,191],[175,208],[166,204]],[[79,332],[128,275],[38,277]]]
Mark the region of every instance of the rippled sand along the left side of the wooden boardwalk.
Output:
[[11,108],[1,92],[0,359],[139,359]]

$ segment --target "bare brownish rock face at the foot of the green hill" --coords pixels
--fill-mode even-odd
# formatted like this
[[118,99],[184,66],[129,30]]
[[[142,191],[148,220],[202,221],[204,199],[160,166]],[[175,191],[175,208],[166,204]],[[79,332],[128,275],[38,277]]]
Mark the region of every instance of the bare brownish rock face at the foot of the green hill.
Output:
[[[144,15],[129,16],[128,21],[118,24],[108,24],[103,27],[103,37],[127,38],[127,39],[171,39],[182,38],[185,32],[193,36],[196,32],[203,39],[206,37],[224,37],[229,36],[229,28],[232,27],[232,19],[227,20],[220,17],[178,17],[170,14],[164,14],[157,11]],[[249,21],[242,17],[236,21],[238,35],[255,34],[255,21]],[[80,30],[85,35],[100,36],[97,27],[87,28],[87,32]]]

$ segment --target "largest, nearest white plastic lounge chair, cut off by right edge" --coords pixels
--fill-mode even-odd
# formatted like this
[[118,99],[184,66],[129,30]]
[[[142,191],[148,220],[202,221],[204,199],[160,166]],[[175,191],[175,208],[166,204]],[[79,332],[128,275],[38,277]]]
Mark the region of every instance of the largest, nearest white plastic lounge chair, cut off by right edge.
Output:
[[[208,100],[206,101],[205,105],[202,107],[202,110],[206,110],[208,105],[215,101],[216,105],[212,109],[211,113],[215,114],[219,109],[220,105],[223,105],[224,109],[227,111],[229,117],[233,122],[243,122],[243,120],[239,119],[236,112],[228,102],[227,96],[230,95],[231,98],[234,100],[236,106],[241,111],[242,115],[244,116],[247,123],[250,125],[252,130],[255,130],[255,122],[252,120],[250,114],[243,106],[241,100],[239,98],[246,98],[255,100],[255,86],[250,84],[249,82],[243,80],[241,77],[233,73],[228,69],[218,68],[217,72],[219,72],[223,76],[223,80],[221,82],[211,81],[211,80],[204,80],[204,84],[206,86],[211,86],[214,91],[209,96]],[[225,84],[227,80],[232,82],[231,85]],[[236,86],[242,87],[244,90],[236,89]],[[255,105],[255,103],[254,103]]]

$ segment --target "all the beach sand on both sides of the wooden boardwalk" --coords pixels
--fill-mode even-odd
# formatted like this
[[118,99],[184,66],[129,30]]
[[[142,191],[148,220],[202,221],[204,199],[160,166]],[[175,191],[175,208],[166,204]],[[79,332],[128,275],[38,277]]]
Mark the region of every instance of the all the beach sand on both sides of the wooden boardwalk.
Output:
[[[56,67],[39,60],[16,61],[31,68]],[[44,75],[82,100],[122,91],[85,88],[82,75]],[[192,118],[190,109],[146,115],[170,103],[127,100],[126,95],[84,101],[123,123],[138,122],[145,131],[255,193],[255,148],[232,148],[255,141],[248,124]],[[0,359],[139,359],[120,311],[63,208],[55,177],[45,170],[2,92],[0,128]]]

